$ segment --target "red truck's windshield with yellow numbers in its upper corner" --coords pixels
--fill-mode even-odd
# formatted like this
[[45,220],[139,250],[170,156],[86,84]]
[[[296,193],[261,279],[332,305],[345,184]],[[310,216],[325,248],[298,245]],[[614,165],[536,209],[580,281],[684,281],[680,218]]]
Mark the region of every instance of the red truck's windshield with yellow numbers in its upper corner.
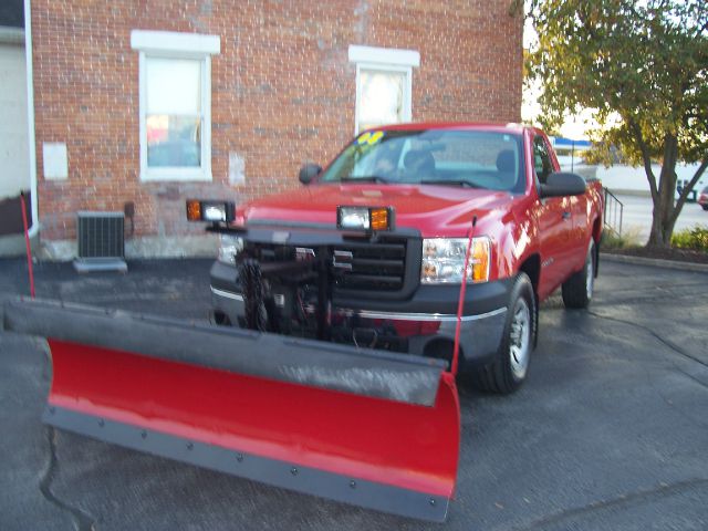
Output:
[[521,192],[521,135],[479,131],[369,131],[322,183],[420,184]]

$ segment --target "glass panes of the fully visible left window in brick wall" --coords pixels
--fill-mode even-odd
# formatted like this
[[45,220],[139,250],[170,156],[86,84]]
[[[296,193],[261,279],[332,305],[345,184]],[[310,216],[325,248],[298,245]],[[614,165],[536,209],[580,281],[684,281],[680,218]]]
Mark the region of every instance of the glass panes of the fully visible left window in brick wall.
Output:
[[148,167],[201,166],[202,61],[146,58]]

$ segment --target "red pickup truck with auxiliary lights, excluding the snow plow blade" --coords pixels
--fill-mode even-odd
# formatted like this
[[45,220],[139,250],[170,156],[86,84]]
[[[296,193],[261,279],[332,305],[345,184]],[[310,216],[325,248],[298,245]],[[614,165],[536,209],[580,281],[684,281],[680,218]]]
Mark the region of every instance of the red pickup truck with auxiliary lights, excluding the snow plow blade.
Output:
[[559,287],[568,308],[590,303],[601,186],[561,173],[538,128],[381,127],[300,180],[236,208],[199,204],[221,233],[217,323],[451,360],[471,239],[460,369],[510,393],[527,377],[539,303]]

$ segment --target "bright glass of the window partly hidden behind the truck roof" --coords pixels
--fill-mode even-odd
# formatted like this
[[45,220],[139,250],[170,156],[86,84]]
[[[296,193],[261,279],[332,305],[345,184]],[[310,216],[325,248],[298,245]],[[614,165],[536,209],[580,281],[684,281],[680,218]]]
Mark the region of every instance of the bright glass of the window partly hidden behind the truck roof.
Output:
[[360,71],[358,129],[398,124],[406,119],[406,73]]

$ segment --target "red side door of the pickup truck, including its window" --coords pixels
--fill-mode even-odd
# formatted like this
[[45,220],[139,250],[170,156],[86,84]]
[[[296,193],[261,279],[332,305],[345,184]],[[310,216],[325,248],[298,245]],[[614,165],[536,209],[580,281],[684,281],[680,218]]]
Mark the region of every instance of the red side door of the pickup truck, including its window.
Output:
[[[533,166],[537,184],[544,184],[556,168],[549,147],[540,135],[533,138]],[[569,197],[539,199],[537,209],[541,248],[539,296],[544,298],[571,273],[573,259],[573,218]]]

